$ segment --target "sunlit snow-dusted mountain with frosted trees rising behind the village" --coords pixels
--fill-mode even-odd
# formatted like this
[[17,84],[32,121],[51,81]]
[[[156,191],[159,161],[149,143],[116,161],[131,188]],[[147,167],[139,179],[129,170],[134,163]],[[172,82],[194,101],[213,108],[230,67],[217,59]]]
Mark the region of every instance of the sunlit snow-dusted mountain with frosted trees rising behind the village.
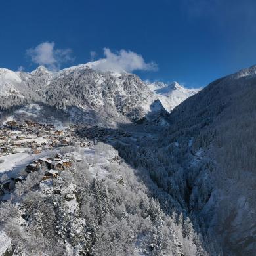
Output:
[[[0,70],[0,106],[12,108],[33,102],[54,106],[84,121],[136,121],[164,111],[158,97],[134,74],[101,72],[90,64],[51,72],[39,66],[30,73]],[[75,117],[74,117],[75,118]],[[73,119],[74,119],[73,118]]]

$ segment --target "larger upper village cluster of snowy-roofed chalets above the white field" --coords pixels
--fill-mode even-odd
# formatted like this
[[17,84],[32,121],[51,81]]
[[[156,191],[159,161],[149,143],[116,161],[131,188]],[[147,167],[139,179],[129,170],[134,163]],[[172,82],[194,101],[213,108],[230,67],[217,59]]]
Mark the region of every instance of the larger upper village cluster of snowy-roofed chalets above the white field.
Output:
[[74,130],[75,126],[58,130],[49,124],[7,121],[0,127],[0,156],[17,152],[38,154],[59,146],[74,146],[81,140],[74,136]]

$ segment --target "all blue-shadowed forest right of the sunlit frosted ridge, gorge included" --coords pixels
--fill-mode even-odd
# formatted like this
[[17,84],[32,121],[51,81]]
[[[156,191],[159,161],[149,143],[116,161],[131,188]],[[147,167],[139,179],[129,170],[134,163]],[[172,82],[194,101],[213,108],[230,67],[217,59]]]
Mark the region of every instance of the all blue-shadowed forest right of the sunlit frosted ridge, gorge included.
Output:
[[161,188],[153,192],[163,209],[193,215],[224,255],[256,249],[255,85],[255,66],[214,81],[171,112],[171,125],[157,140],[131,151],[117,146]]

